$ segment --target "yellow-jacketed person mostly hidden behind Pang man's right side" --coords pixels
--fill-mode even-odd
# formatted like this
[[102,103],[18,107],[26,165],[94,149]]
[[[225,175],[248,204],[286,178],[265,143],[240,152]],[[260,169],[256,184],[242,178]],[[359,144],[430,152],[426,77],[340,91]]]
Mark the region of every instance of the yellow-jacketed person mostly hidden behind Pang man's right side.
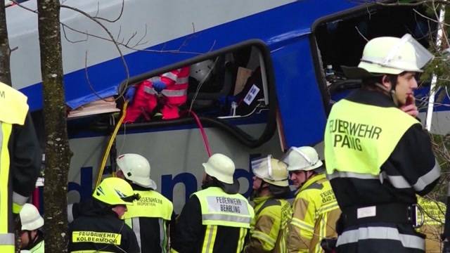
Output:
[[441,234],[444,232],[446,206],[444,203],[430,200],[427,197],[417,195],[417,205],[422,215],[417,215],[420,233],[427,235],[425,238],[425,252],[442,252]]

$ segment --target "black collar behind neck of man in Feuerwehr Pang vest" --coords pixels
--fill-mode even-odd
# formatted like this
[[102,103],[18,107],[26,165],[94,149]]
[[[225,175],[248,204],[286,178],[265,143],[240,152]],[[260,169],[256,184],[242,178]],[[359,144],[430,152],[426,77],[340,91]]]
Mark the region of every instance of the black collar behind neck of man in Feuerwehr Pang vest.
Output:
[[366,89],[359,89],[350,93],[347,98],[355,103],[364,103],[366,105],[375,105],[380,107],[397,107],[389,96],[379,91],[368,91]]

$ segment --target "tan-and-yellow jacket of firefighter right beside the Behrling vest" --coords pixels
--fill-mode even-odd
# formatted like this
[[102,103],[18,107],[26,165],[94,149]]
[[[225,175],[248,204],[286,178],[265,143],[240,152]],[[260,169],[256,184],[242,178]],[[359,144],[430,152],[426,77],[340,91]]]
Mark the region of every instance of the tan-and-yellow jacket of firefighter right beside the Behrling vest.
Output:
[[285,238],[293,215],[290,203],[274,197],[256,197],[254,202],[255,217],[244,252],[287,252]]

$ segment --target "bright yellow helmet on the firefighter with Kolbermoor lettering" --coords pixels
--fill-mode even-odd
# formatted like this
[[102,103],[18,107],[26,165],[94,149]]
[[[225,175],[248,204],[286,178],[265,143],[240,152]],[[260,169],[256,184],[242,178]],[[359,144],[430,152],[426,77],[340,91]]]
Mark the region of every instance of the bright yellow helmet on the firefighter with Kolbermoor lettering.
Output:
[[92,197],[108,205],[133,205],[139,199],[127,181],[115,177],[103,179]]

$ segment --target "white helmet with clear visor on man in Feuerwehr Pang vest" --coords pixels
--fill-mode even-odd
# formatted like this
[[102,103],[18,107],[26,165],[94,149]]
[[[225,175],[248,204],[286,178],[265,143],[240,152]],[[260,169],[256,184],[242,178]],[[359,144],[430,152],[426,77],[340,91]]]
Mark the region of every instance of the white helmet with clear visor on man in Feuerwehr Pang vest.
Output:
[[404,71],[423,72],[433,55],[411,34],[403,37],[378,37],[364,46],[358,67],[342,67],[349,78],[359,79],[375,74],[400,74]]

